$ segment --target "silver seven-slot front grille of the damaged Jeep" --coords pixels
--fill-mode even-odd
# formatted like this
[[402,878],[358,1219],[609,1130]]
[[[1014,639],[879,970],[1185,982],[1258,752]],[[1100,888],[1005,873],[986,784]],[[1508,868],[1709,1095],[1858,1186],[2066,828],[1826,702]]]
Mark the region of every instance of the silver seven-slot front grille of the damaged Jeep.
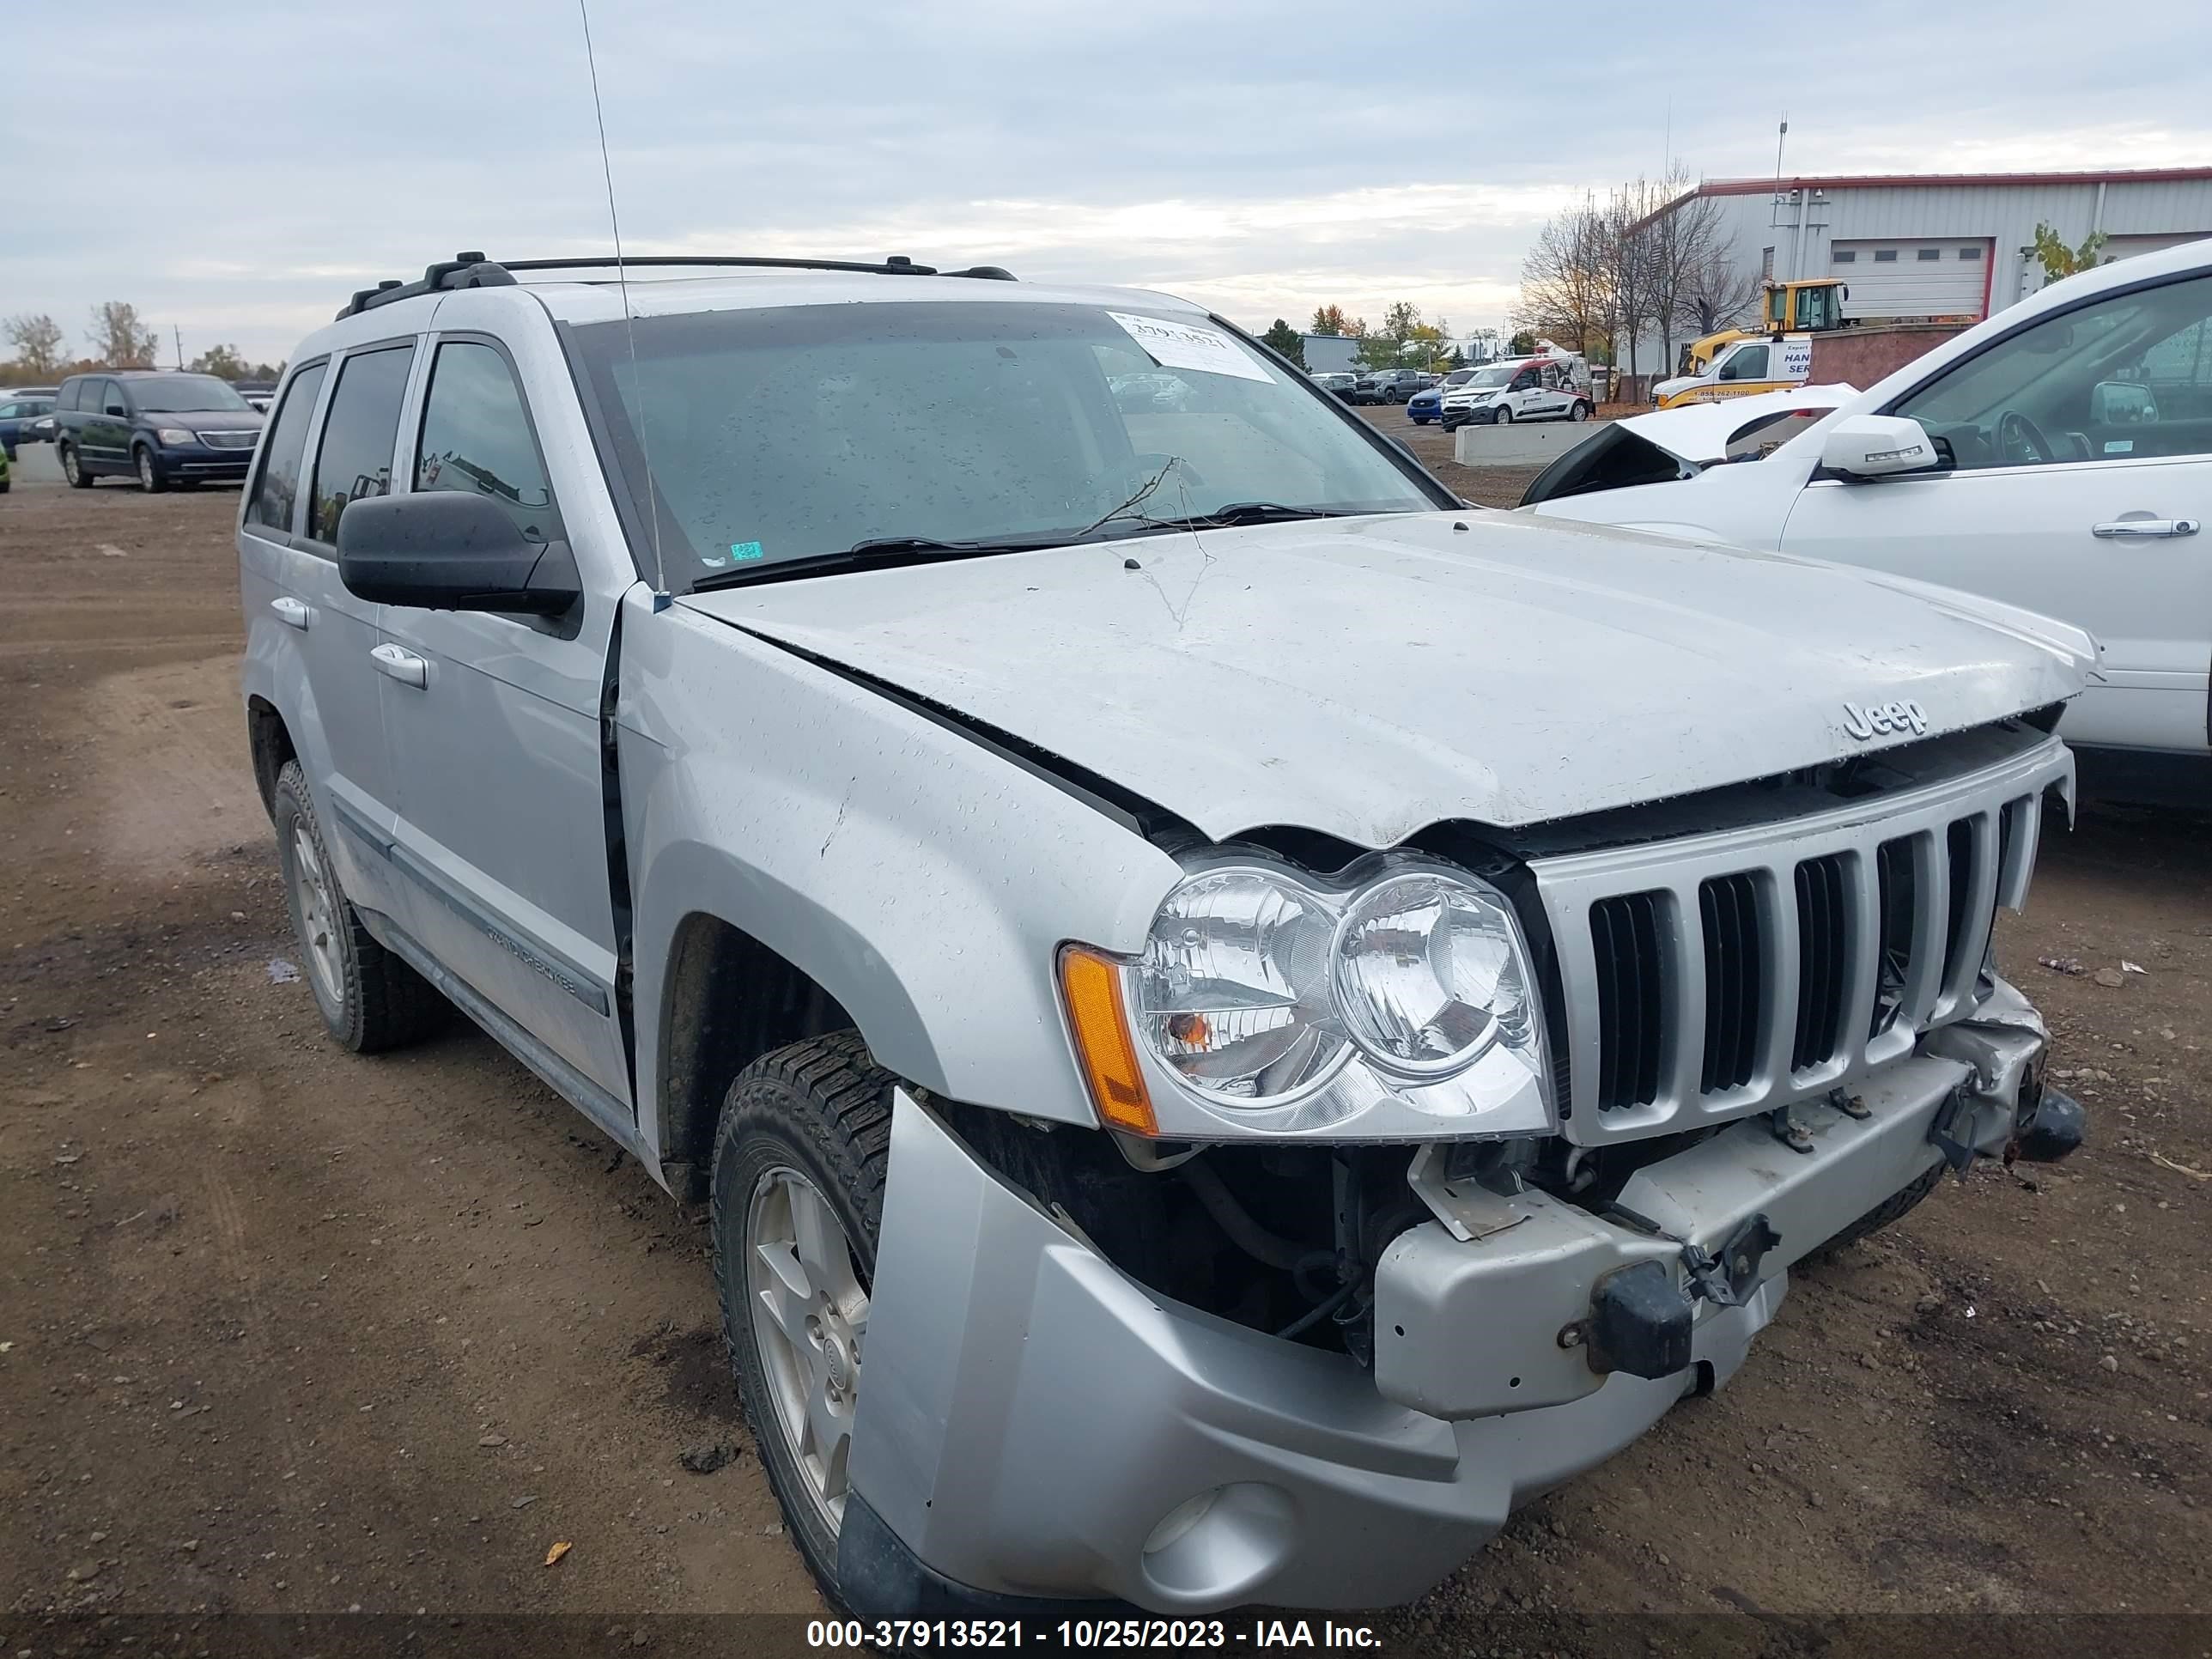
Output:
[[1533,865],[1559,942],[1568,1124],[1655,1135],[1820,1093],[1975,1002],[2000,902],[2026,896],[2057,741],[1882,814]]

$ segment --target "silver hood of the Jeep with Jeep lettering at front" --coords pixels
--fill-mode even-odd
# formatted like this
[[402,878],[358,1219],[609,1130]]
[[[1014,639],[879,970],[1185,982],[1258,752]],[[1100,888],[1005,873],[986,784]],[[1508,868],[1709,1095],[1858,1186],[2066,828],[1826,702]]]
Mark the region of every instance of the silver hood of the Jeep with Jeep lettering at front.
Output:
[[1469,509],[803,577],[679,604],[1225,841],[1520,827],[2064,701],[2088,635],[1778,553]]

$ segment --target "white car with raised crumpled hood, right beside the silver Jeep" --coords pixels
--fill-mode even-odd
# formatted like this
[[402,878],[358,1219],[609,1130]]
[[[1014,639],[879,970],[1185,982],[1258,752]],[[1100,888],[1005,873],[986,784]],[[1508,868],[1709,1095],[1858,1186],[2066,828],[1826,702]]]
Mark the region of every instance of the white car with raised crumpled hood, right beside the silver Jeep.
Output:
[[1639,416],[1579,480],[1537,478],[1531,509],[2064,617],[2104,648],[2059,728],[2084,774],[2212,801],[2212,241],[2051,283],[1763,458],[1681,465],[1670,434],[1699,429],[1668,422],[1697,414]]

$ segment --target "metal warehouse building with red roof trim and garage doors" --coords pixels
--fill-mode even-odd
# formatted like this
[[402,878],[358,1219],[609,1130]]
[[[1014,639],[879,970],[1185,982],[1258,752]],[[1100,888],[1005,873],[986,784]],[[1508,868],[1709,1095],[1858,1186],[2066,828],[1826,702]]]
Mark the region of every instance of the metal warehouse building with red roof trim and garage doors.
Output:
[[[1745,276],[1840,276],[1854,319],[1971,319],[2042,288],[2035,226],[2104,259],[2212,237],[2212,168],[1708,179],[1661,215],[1712,201]],[[1657,215],[1655,215],[1657,217]]]

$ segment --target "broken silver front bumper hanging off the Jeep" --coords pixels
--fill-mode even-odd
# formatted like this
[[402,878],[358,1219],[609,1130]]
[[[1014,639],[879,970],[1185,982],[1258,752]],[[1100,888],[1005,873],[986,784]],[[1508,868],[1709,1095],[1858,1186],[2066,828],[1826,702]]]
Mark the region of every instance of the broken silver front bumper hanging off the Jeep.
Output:
[[[1641,1168],[1613,1217],[1425,1192],[1438,1219],[1376,1267],[1374,1371],[1146,1290],[898,1093],[845,1595],[865,1617],[1409,1601],[1515,1504],[1725,1383],[1787,1265],[1944,1159],[1940,1141],[2006,1150],[2042,1048],[2000,980],[1849,1113],[1801,1106],[1809,1150],[1736,1121]],[[1688,1305],[1701,1261],[1679,1367],[1632,1374],[1608,1283],[1635,1270]]]

